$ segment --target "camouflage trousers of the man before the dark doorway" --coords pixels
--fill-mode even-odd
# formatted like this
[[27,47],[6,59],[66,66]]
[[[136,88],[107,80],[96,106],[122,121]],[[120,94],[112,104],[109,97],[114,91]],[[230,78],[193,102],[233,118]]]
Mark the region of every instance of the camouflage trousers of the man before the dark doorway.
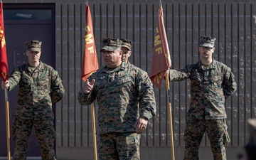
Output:
[[26,160],[28,139],[33,126],[40,144],[42,160],[55,160],[53,120],[20,119],[18,117],[15,117],[13,127],[15,142],[13,160]]

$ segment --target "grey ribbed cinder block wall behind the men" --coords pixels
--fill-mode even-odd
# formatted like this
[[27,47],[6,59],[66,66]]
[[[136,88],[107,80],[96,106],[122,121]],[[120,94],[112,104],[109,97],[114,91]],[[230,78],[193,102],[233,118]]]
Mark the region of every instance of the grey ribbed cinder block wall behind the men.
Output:
[[[217,38],[213,57],[232,68],[238,91],[226,101],[228,159],[249,137],[246,120],[256,117],[256,1],[254,0],[162,0],[166,34],[171,53],[171,68],[183,68],[199,60],[200,36]],[[8,3],[54,3],[56,26],[56,69],[63,78],[65,98],[56,105],[56,151],[58,159],[93,159],[90,106],[80,106],[82,87],[80,68],[85,34],[85,1],[10,0]],[[158,20],[156,0],[88,0],[97,47],[102,38],[129,38],[134,46],[130,62],[150,73],[152,44]],[[171,107],[176,159],[183,157],[183,130],[189,107],[190,81],[171,82]],[[142,159],[170,159],[169,119],[165,82],[155,87],[157,115],[142,133]],[[96,112],[97,112],[97,104]],[[201,159],[211,159],[206,137],[201,144]]]

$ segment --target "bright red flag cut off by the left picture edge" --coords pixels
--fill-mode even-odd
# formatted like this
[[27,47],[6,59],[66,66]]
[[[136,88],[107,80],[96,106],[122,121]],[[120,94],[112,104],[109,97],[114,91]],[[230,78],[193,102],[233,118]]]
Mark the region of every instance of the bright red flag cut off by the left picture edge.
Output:
[[6,41],[4,36],[4,10],[3,3],[0,2],[0,77],[5,82],[9,77],[7,54],[6,54]]

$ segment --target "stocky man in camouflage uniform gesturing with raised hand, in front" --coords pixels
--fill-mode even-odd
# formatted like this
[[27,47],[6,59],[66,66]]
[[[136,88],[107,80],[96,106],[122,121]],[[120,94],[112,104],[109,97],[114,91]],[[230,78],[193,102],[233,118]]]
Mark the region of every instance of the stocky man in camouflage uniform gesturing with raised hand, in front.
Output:
[[103,39],[105,66],[87,79],[78,96],[81,105],[97,99],[100,160],[139,159],[139,133],[156,114],[151,80],[144,70],[122,63],[121,43],[119,39]]

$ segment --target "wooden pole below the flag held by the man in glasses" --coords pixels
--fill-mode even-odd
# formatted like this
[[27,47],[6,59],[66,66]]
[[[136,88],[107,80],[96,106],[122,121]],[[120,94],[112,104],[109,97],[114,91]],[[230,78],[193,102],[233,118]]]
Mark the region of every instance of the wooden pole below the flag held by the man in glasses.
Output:
[[171,116],[171,102],[169,100],[169,90],[170,90],[170,85],[169,85],[169,75],[165,76],[166,80],[166,90],[168,92],[168,113],[169,113],[169,128],[170,128],[170,141],[171,141],[171,157],[172,160],[175,160],[175,154],[174,154],[174,132],[173,132],[173,126],[172,126],[172,116]]

